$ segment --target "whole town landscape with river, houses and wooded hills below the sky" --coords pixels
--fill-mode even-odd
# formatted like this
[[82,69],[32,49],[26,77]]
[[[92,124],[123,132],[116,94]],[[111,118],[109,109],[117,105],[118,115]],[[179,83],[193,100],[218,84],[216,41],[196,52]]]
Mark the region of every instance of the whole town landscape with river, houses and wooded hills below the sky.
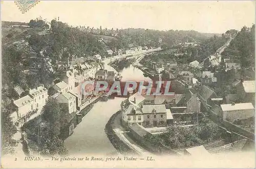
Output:
[[[254,24],[206,35],[27,22],[2,21],[5,154],[255,151]],[[168,85],[146,94],[150,81]]]

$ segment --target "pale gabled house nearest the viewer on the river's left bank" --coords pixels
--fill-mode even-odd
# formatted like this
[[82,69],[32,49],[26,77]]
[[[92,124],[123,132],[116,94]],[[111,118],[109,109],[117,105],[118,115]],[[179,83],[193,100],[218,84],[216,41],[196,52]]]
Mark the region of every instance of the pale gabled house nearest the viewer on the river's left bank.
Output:
[[67,104],[69,107],[69,114],[76,111],[76,97],[69,92],[61,93],[56,97],[57,102],[61,104]]

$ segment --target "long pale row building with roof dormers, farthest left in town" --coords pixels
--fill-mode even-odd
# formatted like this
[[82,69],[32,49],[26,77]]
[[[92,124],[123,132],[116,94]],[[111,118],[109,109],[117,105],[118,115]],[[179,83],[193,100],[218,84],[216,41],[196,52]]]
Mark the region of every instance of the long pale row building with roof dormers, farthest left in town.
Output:
[[44,85],[27,91],[27,94],[28,95],[17,100],[11,100],[10,107],[14,111],[12,114],[14,121],[17,120],[18,117],[23,117],[29,111],[36,109],[41,110],[48,99],[48,90],[44,87]]

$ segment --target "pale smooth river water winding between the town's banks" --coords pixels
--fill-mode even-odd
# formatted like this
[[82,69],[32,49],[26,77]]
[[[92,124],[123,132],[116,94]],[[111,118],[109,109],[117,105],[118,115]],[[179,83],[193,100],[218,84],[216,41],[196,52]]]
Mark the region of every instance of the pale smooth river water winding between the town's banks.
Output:
[[[105,63],[105,69],[114,70]],[[143,76],[143,72],[138,68],[130,65],[120,71],[122,81],[127,80],[150,80]],[[97,102],[93,108],[83,117],[74,129],[74,133],[65,140],[65,145],[70,155],[79,154],[100,154],[112,155],[117,154],[117,150],[110,143],[108,136],[105,134],[105,125],[115,112],[120,109],[120,104],[126,98],[109,99],[106,102]]]

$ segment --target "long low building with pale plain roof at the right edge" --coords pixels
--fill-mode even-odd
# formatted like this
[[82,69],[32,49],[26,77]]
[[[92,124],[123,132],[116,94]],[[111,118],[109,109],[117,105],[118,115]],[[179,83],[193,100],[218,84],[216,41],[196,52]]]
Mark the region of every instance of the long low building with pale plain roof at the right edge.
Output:
[[251,103],[221,104],[218,116],[221,121],[226,120],[233,123],[237,120],[255,117],[255,110]]

